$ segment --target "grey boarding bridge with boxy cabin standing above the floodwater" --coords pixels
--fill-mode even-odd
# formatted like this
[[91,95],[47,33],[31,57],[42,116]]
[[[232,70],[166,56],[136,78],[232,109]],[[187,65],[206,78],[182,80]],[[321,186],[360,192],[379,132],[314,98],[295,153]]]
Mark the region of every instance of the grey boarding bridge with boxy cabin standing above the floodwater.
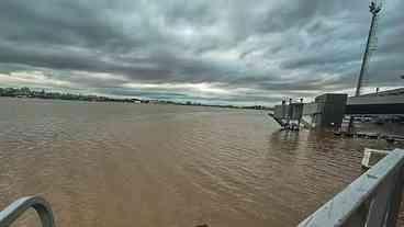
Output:
[[345,115],[402,115],[404,114],[404,88],[359,97],[326,93],[312,103],[284,101],[270,114],[282,127],[302,123],[308,128],[338,128]]

